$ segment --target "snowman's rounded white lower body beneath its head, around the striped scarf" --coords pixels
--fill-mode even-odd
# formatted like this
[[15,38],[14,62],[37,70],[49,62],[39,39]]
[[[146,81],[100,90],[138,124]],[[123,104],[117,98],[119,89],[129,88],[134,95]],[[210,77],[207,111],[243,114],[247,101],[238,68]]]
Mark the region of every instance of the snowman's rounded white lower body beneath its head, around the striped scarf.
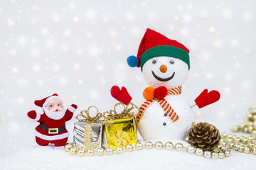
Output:
[[[154,101],[146,108],[141,120],[137,124],[139,133],[144,140],[185,140],[188,130],[194,120],[194,113],[181,95],[166,96],[166,101],[174,108],[179,119],[173,123],[169,116],[164,116],[164,110]],[[166,123],[166,125],[164,125]]]

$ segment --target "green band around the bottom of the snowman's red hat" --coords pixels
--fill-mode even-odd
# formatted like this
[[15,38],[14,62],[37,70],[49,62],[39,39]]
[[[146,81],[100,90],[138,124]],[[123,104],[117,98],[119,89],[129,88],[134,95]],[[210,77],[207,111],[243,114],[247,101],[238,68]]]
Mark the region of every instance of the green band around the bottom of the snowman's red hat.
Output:
[[149,50],[146,50],[145,52],[143,52],[141,57],[141,62],[140,62],[141,69],[147,60],[153,57],[160,57],[160,56],[174,57],[179,60],[182,60],[183,62],[186,62],[186,64],[188,64],[188,69],[190,69],[188,52],[186,52],[185,50],[182,50],[181,48],[173,47],[170,45],[161,45],[161,46],[152,47]]

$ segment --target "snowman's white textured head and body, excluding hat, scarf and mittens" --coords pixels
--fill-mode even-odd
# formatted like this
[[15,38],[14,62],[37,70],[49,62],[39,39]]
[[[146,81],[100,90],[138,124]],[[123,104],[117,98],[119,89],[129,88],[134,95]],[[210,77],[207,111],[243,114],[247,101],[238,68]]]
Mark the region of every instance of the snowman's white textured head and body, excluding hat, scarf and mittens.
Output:
[[[156,60],[156,62],[153,62],[153,60]],[[170,60],[173,60],[174,64],[170,64]],[[159,70],[161,64],[166,65],[166,72]],[[154,77],[152,71],[161,78],[171,77],[174,72],[175,75],[169,81],[159,81]],[[145,62],[142,73],[147,84],[154,89],[159,86],[165,86],[166,89],[173,89],[182,86],[183,82],[186,81],[188,65],[173,57],[153,57]],[[165,112],[159,103],[154,101],[154,103],[151,103],[151,105],[146,108],[139,123],[137,123],[139,133],[144,140],[186,139],[188,130],[191,128],[194,121],[195,115],[192,109],[182,97],[182,92],[180,95],[166,96],[165,99],[170,106],[174,108],[179,119],[173,123],[168,115],[164,116]],[[164,123],[166,123],[166,125],[164,125]]]

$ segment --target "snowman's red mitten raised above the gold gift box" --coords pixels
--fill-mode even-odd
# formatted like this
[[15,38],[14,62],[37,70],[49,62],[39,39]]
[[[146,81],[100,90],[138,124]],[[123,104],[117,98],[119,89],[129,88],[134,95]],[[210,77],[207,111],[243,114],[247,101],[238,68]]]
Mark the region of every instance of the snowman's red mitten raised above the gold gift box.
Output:
[[119,86],[112,86],[110,89],[110,93],[113,98],[117,99],[117,101],[124,103],[125,105],[129,104],[132,101],[132,97],[129,95],[127,89],[122,87],[119,89]]

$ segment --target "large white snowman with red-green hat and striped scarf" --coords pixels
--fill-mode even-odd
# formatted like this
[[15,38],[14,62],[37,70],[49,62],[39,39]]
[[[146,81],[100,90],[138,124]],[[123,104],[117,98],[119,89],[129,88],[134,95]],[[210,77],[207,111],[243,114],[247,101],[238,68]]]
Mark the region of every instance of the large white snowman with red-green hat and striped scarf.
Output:
[[[185,140],[195,113],[181,94],[181,86],[190,69],[189,50],[147,29],[139,45],[137,57],[127,58],[130,67],[141,67],[149,87],[143,91],[146,101],[137,115],[137,128],[144,140]],[[195,100],[199,108],[218,101],[218,91],[202,92]]]

